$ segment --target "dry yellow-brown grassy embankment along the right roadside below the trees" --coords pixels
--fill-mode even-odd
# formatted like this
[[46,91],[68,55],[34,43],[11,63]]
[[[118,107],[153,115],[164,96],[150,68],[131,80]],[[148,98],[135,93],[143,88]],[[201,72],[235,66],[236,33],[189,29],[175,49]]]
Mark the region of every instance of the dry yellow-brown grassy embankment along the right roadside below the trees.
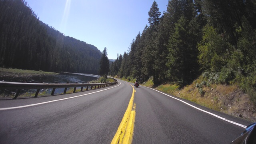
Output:
[[[135,81],[126,78],[120,79],[129,82]],[[154,83],[152,79],[149,79],[141,85],[152,88]],[[183,88],[179,88],[176,84],[162,84],[155,89],[219,112],[241,117],[252,122],[256,121],[256,108],[251,102],[250,96],[244,93],[236,84],[208,84],[205,82],[205,78],[200,76],[192,84]]]

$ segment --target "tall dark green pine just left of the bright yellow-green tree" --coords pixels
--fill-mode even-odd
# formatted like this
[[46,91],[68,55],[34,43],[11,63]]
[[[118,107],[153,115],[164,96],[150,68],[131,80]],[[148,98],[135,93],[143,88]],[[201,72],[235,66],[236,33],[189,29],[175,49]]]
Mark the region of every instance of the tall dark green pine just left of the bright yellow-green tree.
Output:
[[181,85],[192,82],[197,76],[197,49],[190,32],[189,21],[184,16],[175,24],[175,32],[168,45],[168,74]]

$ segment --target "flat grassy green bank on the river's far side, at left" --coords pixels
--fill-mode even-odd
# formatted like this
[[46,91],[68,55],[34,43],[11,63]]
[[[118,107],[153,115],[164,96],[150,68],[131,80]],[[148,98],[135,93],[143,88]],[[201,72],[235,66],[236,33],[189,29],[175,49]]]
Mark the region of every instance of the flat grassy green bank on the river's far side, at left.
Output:
[[57,75],[55,72],[44,72],[42,70],[20,70],[12,68],[0,68],[0,78],[4,77],[30,77],[30,76],[46,76],[46,75]]

